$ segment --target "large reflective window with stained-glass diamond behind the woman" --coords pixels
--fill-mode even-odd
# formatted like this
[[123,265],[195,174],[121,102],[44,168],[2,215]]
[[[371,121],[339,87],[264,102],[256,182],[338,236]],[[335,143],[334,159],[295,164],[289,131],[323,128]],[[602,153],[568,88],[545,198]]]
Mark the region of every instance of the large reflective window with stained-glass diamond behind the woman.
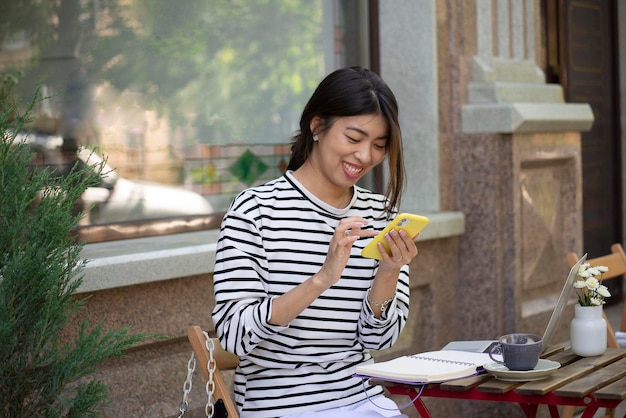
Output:
[[74,148],[106,159],[82,222],[101,231],[215,227],[240,190],[282,173],[319,80],[368,59],[364,1],[9,3],[2,80],[49,96],[31,126],[39,163],[65,166]]

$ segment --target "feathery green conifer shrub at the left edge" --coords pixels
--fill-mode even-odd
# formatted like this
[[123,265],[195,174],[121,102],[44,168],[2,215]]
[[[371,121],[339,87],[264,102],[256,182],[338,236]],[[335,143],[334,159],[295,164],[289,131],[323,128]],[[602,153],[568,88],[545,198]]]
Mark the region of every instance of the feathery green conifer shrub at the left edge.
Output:
[[[71,235],[81,217],[74,202],[102,168],[66,177],[35,169],[29,145],[15,138],[35,103],[20,114],[0,97],[0,416],[97,416],[107,392],[89,376],[95,365],[148,337],[105,331],[80,316],[84,301],[73,294],[84,261]],[[72,315],[84,318],[73,332]]]

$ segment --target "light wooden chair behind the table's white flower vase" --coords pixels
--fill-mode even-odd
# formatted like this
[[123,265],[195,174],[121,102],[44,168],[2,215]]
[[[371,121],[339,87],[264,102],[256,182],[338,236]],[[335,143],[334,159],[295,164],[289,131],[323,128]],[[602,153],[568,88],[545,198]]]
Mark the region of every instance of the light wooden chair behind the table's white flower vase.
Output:
[[[566,256],[567,263],[570,268],[576,264],[578,259],[580,258],[576,253],[569,253]],[[592,266],[607,266],[609,271],[602,275],[602,281],[605,282],[607,280],[615,279],[617,277],[622,277],[626,274],[626,254],[624,253],[624,249],[621,244],[613,244],[611,246],[611,253],[608,255],[604,255],[601,257],[596,257],[592,259],[587,259],[587,262]],[[613,348],[619,348],[619,344],[617,343],[617,338],[615,337],[615,332],[613,331],[613,327],[609,323],[606,314],[602,312],[602,317],[606,321],[606,342],[607,346]],[[620,331],[626,331],[626,304],[624,304],[623,312],[622,312],[622,320],[620,322]],[[612,418],[615,414],[615,410],[608,409],[606,411],[605,418]],[[574,407],[566,406],[563,409],[563,418],[571,418],[574,415]]]

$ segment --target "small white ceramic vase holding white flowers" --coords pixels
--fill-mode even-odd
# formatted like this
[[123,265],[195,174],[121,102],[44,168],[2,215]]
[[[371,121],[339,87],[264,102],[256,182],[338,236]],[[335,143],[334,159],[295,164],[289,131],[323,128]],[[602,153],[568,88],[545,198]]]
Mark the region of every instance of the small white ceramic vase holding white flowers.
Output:
[[602,306],[576,304],[570,325],[570,341],[572,351],[579,356],[599,356],[606,351],[606,322],[602,318]]

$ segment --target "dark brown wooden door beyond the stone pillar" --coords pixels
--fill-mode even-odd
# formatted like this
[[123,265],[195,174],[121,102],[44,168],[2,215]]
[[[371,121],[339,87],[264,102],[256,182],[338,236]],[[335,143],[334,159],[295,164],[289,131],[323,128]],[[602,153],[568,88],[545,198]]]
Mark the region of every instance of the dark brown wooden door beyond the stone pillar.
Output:
[[[616,0],[544,0],[546,76],[567,102],[588,103],[593,127],[581,133],[583,250],[589,257],[622,242]],[[622,283],[607,304],[622,300]]]

